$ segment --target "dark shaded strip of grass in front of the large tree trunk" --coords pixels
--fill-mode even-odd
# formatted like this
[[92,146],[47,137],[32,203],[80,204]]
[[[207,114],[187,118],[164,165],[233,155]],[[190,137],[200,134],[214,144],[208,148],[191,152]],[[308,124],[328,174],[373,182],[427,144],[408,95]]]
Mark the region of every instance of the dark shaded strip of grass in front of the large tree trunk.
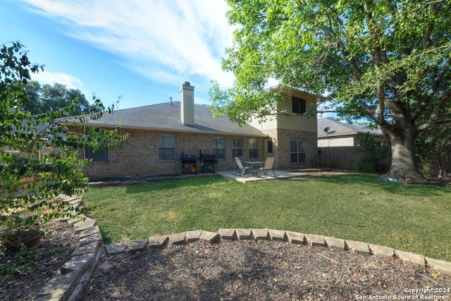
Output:
[[323,181],[325,185],[371,185],[372,188],[378,188],[397,195],[412,195],[412,196],[425,196],[440,195],[443,193],[443,189],[438,185],[426,185],[426,184],[406,184],[406,183],[394,183],[387,180],[381,180],[376,175],[369,173],[347,173],[340,176],[321,176],[318,178],[311,178],[311,180]]

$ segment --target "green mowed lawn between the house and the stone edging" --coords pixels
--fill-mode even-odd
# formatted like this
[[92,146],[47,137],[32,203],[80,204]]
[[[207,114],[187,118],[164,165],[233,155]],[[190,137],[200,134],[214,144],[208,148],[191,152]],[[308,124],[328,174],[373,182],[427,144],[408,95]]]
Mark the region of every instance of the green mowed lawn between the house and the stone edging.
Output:
[[104,242],[183,231],[273,228],[451,261],[451,188],[369,174],[238,183],[216,176],[89,188]]

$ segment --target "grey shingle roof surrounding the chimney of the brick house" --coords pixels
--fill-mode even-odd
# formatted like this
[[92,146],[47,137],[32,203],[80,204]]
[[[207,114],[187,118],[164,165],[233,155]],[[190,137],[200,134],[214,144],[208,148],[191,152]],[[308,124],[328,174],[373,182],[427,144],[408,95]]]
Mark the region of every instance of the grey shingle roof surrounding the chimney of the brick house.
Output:
[[[66,119],[67,120],[67,119]],[[77,123],[76,118],[68,118]],[[218,135],[249,135],[267,137],[257,128],[247,125],[241,128],[227,117],[214,118],[209,106],[194,104],[194,126],[184,125],[180,121],[180,102],[153,104],[132,109],[122,109],[111,114],[105,113],[98,120],[87,118],[86,125],[96,127],[122,128],[140,130],[165,130],[188,133],[217,133]]]

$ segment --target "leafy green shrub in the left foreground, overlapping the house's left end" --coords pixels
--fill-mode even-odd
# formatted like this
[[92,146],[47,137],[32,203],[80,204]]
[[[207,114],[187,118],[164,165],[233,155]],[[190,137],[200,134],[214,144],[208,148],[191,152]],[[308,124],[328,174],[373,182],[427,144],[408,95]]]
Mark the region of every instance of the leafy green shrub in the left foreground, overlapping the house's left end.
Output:
[[[116,130],[89,128],[87,118],[99,118],[105,108],[89,116],[75,118],[76,130],[69,121],[58,119],[75,111],[78,102],[37,115],[25,109],[30,101],[27,85],[30,73],[42,66],[30,63],[19,42],[0,48],[0,239],[16,231],[34,228],[64,214],[60,194],[76,195],[85,188],[77,149],[116,147],[126,136]],[[73,120],[72,120],[73,121]]]

